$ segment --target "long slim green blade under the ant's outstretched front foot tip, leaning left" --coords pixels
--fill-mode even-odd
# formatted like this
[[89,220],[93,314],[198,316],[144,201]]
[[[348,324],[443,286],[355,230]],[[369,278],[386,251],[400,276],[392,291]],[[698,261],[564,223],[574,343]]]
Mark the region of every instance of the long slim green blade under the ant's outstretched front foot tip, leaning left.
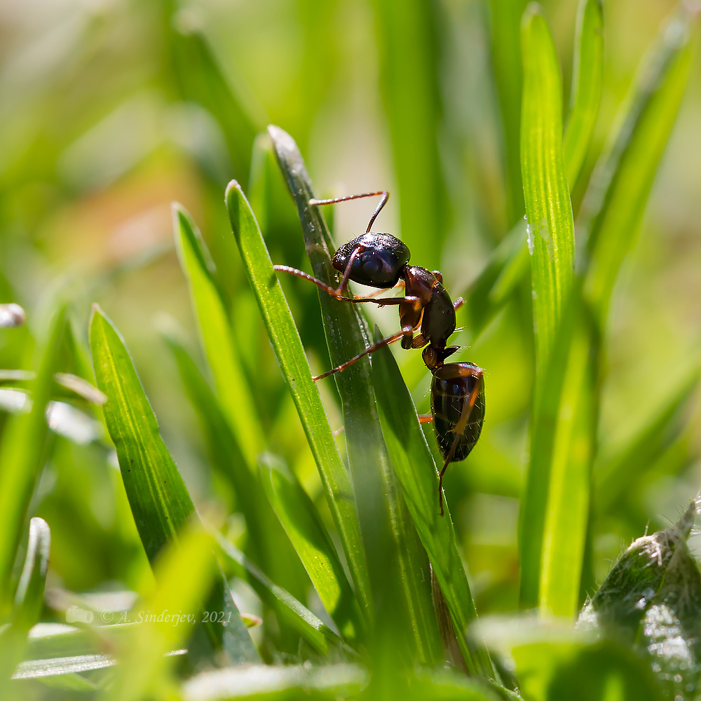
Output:
[[263,316],[275,357],[290,388],[294,405],[304,427],[324,484],[334,524],[346,554],[358,599],[369,606],[370,588],[365,551],[360,538],[353,488],[329,426],[319,391],[314,385],[290,308],[275,278],[273,264],[250,205],[236,182],[226,189],[233,235],[238,243],[244,268]]

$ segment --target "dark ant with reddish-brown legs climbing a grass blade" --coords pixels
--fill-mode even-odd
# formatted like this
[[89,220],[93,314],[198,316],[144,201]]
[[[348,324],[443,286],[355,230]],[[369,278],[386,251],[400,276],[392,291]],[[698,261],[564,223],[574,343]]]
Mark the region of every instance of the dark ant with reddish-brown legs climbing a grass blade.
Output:
[[[460,346],[447,346],[447,341],[455,332],[455,312],[464,304],[462,297],[455,303],[443,287],[440,271],[428,271],[420,266],[409,265],[409,248],[398,238],[388,233],[372,233],[370,229],[377,215],[389,199],[386,190],[348,195],[327,200],[309,200],[313,206],[332,205],[364,197],[380,197],[365,233],[343,244],[336,251],[333,266],[343,273],[341,283],[334,288],[312,275],[290,266],[273,266],[275,271],[290,273],[314,283],[327,294],[339,301],[363,304],[372,302],[378,306],[396,304],[399,306],[400,332],[387,336],[354,358],[346,360],[338,367],[315,376],[323,379],[334,372],[346,369],[364,355],[402,341],[402,348],[423,348],[422,358],[433,374],[431,383],[431,416],[421,417],[422,423],[433,421],[438,447],[444,458],[443,468],[438,478],[438,503],[443,515],[443,475],[449,463],[464,460],[475,447],[484,423],[484,379],[482,369],[472,362],[444,361],[460,350]],[[398,283],[404,285],[404,297],[346,297],[348,282],[353,280],[360,285],[389,290]],[[414,332],[421,327],[415,336]]]

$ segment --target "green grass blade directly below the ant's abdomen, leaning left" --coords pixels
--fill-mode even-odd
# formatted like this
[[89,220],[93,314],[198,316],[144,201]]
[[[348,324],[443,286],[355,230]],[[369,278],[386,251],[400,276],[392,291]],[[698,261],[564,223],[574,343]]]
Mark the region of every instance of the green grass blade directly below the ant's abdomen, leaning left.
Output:
[[[378,390],[380,420],[392,464],[418,536],[443,591],[465,665],[470,674],[493,678],[494,669],[489,653],[481,641],[473,641],[468,634],[468,626],[477,620],[477,611],[458,552],[453,522],[447,503],[444,517],[440,515],[433,456],[418,423],[414,402],[389,348],[374,354],[372,375]],[[452,469],[462,467],[453,465]]]

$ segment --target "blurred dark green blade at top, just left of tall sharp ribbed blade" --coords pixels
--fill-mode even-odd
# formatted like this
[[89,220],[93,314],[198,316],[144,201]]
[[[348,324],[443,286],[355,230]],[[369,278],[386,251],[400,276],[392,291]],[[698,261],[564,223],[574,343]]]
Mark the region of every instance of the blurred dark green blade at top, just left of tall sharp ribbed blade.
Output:
[[505,184],[508,224],[524,212],[524,194],[519,156],[521,129],[522,64],[519,27],[526,0],[491,0],[491,60],[501,107],[504,130]]

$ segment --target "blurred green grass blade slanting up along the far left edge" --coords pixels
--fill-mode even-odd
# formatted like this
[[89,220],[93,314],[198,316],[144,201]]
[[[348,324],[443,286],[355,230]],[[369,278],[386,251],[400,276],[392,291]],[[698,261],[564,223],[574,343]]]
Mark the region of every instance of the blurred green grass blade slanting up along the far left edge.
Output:
[[60,306],[48,334],[39,343],[39,370],[30,385],[32,410],[9,419],[0,442],[0,620],[11,606],[12,571],[25,529],[29,501],[43,465],[48,435],[46,407],[53,391],[66,323],[66,308]]

